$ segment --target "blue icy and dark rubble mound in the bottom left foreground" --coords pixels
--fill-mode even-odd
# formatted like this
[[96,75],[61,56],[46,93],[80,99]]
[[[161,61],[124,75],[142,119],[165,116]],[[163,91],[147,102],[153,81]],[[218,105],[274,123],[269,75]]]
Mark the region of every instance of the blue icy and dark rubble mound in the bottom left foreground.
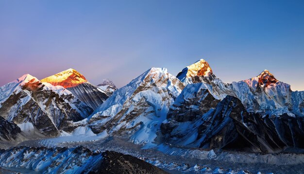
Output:
[[166,174],[130,155],[76,148],[13,147],[1,150],[2,167],[28,169],[42,174]]

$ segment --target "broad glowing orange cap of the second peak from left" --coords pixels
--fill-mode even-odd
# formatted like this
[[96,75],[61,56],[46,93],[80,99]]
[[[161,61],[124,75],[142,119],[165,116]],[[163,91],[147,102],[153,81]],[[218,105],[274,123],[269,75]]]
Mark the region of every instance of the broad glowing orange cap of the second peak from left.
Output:
[[50,77],[44,78],[41,82],[50,83],[53,86],[75,87],[87,82],[84,75],[74,69],[64,70]]

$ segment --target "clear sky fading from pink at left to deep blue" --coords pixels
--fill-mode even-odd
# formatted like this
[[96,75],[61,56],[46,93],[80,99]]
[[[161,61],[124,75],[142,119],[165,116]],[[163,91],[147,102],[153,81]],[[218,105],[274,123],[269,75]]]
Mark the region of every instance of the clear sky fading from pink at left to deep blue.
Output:
[[201,58],[226,83],[267,69],[304,90],[304,0],[0,0],[0,86],[73,68],[121,87]]

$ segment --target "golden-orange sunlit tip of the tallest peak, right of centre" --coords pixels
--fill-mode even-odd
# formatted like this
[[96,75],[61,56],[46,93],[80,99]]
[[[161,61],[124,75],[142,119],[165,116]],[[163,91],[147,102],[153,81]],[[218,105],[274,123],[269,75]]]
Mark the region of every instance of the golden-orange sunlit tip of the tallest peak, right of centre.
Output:
[[185,77],[209,76],[211,74],[213,73],[208,62],[201,59],[194,64],[187,66],[184,70],[178,73],[176,77],[181,80]]

